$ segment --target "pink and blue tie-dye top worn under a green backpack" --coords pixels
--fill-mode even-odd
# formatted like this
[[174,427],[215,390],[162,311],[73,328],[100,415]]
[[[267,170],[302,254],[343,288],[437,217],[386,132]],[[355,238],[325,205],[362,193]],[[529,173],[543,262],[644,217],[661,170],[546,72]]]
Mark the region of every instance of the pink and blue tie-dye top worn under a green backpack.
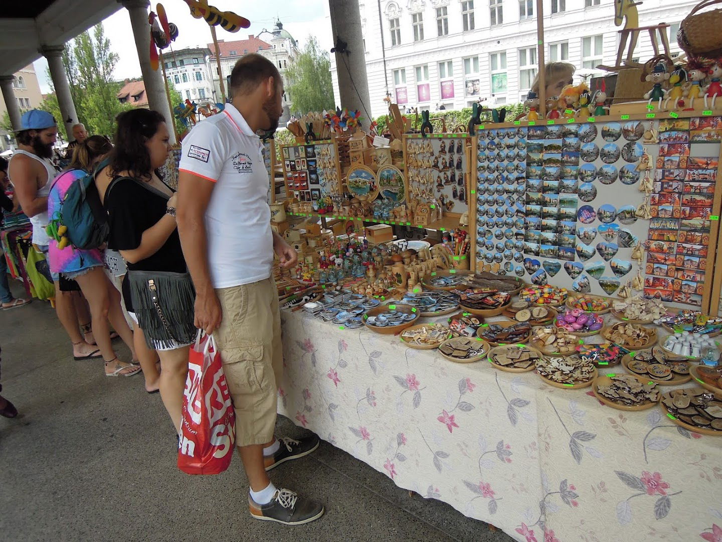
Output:
[[[56,213],[57,215],[60,214],[61,202],[65,198],[65,193],[68,192],[70,185],[86,175],[87,172],[82,169],[70,169],[55,178],[50,194],[48,194],[48,217],[50,217],[50,220],[58,218]],[[48,250],[48,259],[53,274],[76,273],[90,269],[90,267],[103,265],[103,254],[100,253],[100,250],[81,250],[72,245],[60,250],[58,249],[58,241],[52,238]]]

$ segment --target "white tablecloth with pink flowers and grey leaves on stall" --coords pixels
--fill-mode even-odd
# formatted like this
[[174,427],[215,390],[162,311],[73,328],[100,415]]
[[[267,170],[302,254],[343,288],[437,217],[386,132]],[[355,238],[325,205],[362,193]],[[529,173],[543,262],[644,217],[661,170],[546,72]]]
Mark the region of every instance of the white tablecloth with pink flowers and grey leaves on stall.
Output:
[[722,438],[534,372],[454,364],[300,312],[282,319],[279,413],[397,486],[518,541],[722,542]]

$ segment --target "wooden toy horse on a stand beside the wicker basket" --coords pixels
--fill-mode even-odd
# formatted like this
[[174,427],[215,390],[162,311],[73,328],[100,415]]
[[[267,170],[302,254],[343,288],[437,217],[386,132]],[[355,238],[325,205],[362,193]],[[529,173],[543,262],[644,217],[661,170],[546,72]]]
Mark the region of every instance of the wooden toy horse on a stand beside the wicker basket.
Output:
[[[598,66],[600,69],[606,69],[607,72],[620,72],[622,69],[643,67],[642,64],[632,60],[639,39],[639,33],[643,31],[649,33],[649,39],[651,40],[655,56],[659,54],[669,56],[669,40],[667,39],[667,28],[669,28],[669,25],[661,22],[658,25],[640,27],[637,6],[641,3],[642,2],[635,0],[614,0],[614,25],[622,26],[622,22],[624,23],[622,30],[619,30],[617,62],[614,66]],[[657,37],[659,37],[659,41]],[[628,48],[627,40],[629,40]],[[661,50],[659,42],[661,42]],[[624,58],[625,48],[627,48],[626,58]]]

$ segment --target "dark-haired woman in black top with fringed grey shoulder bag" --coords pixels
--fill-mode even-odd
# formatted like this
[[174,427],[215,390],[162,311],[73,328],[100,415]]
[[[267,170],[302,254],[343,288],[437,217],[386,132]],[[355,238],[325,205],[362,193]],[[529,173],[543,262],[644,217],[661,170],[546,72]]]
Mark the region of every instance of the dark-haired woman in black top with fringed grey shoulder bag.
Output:
[[122,288],[138,324],[135,340],[158,352],[160,396],[179,431],[195,293],[175,228],[175,193],[157,173],[168,160],[170,134],[157,111],[126,111],[117,121],[110,163],[95,184],[108,210],[108,246],[128,265]]

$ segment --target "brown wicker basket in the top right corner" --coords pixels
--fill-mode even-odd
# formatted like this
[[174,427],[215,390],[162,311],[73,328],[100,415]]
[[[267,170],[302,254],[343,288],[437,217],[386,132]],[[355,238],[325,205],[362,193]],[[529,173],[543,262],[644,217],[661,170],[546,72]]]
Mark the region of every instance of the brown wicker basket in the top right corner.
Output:
[[703,0],[679,25],[677,43],[689,55],[714,57],[722,55],[722,9],[697,13],[700,9],[721,4],[722,0]]

